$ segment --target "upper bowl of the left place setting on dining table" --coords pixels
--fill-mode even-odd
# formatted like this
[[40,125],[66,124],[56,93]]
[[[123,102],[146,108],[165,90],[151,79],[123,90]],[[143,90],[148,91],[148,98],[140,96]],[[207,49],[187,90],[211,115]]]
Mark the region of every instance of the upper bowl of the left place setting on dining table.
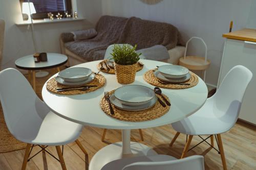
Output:
[[81,82],[87,80],[92,70],[84,67],[67,68],[59,72],[58,76],[66,82]]

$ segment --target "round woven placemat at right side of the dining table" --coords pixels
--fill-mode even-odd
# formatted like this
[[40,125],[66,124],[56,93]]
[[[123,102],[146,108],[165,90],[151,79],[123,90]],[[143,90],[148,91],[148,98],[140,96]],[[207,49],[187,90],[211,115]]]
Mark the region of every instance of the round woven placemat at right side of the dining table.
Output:
[[194,87],[198,84],[198,77],[194,72],[190,72],[191,78],[186,81],[185,83],[189,83],[190,85],[179,85],[179,84],[161,84],[158,82],[158,78],[155,77],[154,75],[154,70],[151,69],[145,72],[143,75],[144,80],[147,83],[150,83],[153,86],[161,87],[161,88],[169,88],[169,89],[185,89],[185,88],[190,88]]

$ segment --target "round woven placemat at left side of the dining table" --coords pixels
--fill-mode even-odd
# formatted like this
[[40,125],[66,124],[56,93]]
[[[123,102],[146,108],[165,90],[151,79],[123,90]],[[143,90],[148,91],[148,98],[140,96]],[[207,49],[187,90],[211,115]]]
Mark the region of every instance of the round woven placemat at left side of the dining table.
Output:
[[[49,90],[53,93],[56,93],[56,94],[63,94],[63,95],[84,94],[84,93],[89,93],[91,91],[95,91],[95,90],[99,89],[100,87],[104,86],[105,82],[106,82],[106,79],[104,78],[104,76],[97,74],[93,81],[86,84],[86,85],[96,85],[97,87],[91,87],[86,91],[69,90],[69,91],[57,92],[57,90],[56,90],[57,88],[70,87],[70,86],[64,86],[64,85],[58,84],[56,82],[55,78],[52,78],[47,82],[46,88],[47,88],[47,90]],[[77,87],[79,87],[79,86],[77,86]]]

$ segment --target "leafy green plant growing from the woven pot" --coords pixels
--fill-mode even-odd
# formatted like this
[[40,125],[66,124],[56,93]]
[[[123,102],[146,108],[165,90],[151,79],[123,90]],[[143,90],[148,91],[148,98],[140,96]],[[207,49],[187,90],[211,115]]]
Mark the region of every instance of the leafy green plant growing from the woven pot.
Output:
[[139,61],[140,59],[139,56],[141,55],[141,53],[138,54],[135,52],[136,47],[137,45],[132,47],[129,44],[115,44],[113,48],[113,53],[111,53],[115,63],[120,65],[132,65],[137,63],[137,61]]

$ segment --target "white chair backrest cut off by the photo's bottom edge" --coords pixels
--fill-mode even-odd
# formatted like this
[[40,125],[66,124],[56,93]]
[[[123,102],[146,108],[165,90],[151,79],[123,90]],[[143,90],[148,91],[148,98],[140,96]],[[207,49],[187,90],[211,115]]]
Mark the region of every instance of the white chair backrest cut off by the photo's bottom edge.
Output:
[[194,155],[183,159],[159,161],[159,162],[136,162],[126,165],[122,170],[204,170],[204,157]]

